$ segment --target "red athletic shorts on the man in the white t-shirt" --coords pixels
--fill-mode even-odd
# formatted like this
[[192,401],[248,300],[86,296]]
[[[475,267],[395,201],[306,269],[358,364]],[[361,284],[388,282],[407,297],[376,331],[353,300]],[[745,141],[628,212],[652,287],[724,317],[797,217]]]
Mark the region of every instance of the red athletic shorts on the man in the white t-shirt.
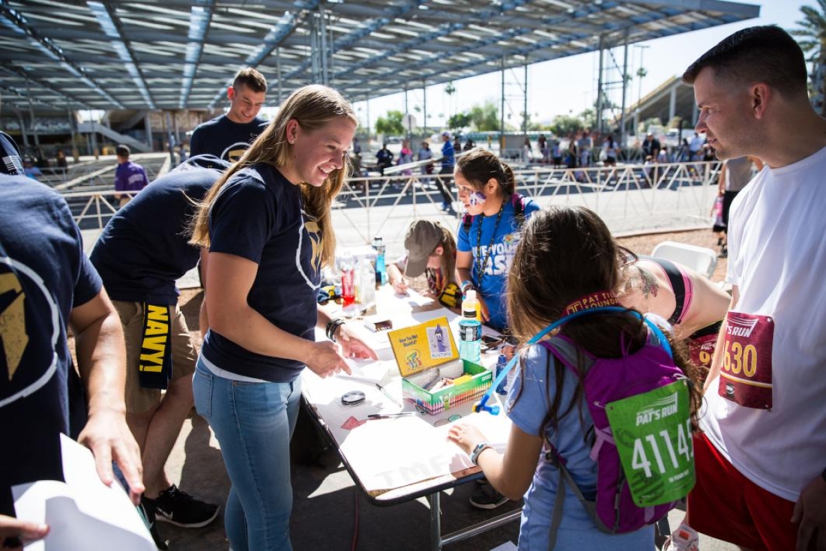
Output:
[[744,477],[705,435],[694,437],[697,484],[688,494],[691,528],[741,547],[791,551],[797,525],[792,501],[767,492]]

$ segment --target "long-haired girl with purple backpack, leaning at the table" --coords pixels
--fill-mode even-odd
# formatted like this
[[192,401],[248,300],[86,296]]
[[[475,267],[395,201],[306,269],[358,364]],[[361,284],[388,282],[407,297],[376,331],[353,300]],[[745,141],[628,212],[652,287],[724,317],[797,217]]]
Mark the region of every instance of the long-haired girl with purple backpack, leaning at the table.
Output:
[[[520,353],[507,397],[513,425],[504,454],[474,425],[460,422],[449,431],[449,439],[471,456],[496,490],[511,499],[525,497],[520,550],[653,549],[653,523],[685,495],[688,486],[682,482],[693,484],[691,430],[700,403],[696,369],[683,349],[672,350],[661,330],[637,311],[618,307],[614,292],[623,258],[624,251],[592,211],[550,207],[535,213],[525,224],[508,276],[510,328],[521,342],[530,343],[541,339],[537,335],[549,324],[563,324]],[[622,377],[617,376],[620,371]],[[647,373],[647,378],[637,379],[637,373]],[[611,379],[615,381],[605,383]],[[670,399],[665,405],[662,400],[645,402],[648,388],[653,393],[672,387],[683,387],[673,394],[673,404]],[[596,395],[605,398],[602,403],[595,403]],[[658,422],[661,415],[676,411],[678,395],[684,420],[669,428],[671,438],[663,435],[660,440],[666,430],[657,426],[650,440],[634,440],[638,447],[629,465],[640,472],[629,474],[619,464],[627,449],[620,446],[627,446],[626,432],[610,430],[615,425],[609,410],[619,403],[614,400],[642,399],[650,406],[638,408],[636,423],[631,417],[633,432],[655,415]],[[498,410],[485,402],[483,398],[477,404],[477,411]],[[652,453],[643,444],[658,445],[662,453]],[[682,471],[671,470],[672,463],[674,468],[680,463]],[[643,471],[663,471],[665,478],[652,479],[666,481],[658,485],[657,504],[663,499],[667,504],[638,501],[634,487],[645,479]]]

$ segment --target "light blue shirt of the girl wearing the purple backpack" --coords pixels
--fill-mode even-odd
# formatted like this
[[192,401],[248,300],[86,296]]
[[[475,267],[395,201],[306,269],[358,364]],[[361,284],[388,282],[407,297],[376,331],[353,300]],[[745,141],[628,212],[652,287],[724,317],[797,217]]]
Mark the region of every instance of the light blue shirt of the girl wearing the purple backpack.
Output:
[[[563,412],[571,405],[578,382],[569,369],[562,365],[560,368],[563,369],[564,375],[558,411]],[[529,347],[525,352],[524,368],[517,368],[516,378],[508,392],[508,416],[513,424],[526,434],[541,434],[550,402],[552,397],[556,396],[556,380],[553,355],[539,344]],[[586,443],[585,437],[593,425],[591,413],[583,403],[582,406],[574,405],[572,410],[559,420],[558,430],[548,428],[544,433],[544,438],[548,439],[567,460],[567,468],[586,499],[594,499],[596,495],[596,461],[589,455],[591,446]],[[545,460],[544,454],[539,454],[534,480],[525,493],[525,506],[522,508],[520,551],[548,549],[548,533],[558,487],[558,469]],[[653,526],[631,534],[604,534],[596,528],[591,516],[567,485],[565,492],[563,518],[554,549],[653,549]]]

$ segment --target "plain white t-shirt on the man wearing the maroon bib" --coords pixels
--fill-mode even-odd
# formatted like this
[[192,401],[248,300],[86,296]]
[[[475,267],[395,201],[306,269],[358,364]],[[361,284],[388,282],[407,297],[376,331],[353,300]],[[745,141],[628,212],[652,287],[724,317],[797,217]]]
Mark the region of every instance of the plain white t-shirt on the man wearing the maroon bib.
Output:
[[774,320],[771,410],[706,393],[703,428],[749,480],[796,501],[826,467],[826,148],[764,168],[734,200],[729,282],[735,311]]

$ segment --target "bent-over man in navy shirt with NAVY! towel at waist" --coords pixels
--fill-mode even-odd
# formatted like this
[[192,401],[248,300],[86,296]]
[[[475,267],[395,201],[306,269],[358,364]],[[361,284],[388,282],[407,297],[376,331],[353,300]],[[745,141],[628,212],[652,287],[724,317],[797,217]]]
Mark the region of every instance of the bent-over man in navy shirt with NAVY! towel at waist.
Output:
[[200,155],[158,178],[112,216],[91,255],[126,335],[126,420],[140,445],[143,503],[162,549],[155,518],[199,528],[218,512],[178,490],[164,465],[192,409],[197,359],[175,285],[202,258],[188,245],[187,226],[197,202],[229,166]]

